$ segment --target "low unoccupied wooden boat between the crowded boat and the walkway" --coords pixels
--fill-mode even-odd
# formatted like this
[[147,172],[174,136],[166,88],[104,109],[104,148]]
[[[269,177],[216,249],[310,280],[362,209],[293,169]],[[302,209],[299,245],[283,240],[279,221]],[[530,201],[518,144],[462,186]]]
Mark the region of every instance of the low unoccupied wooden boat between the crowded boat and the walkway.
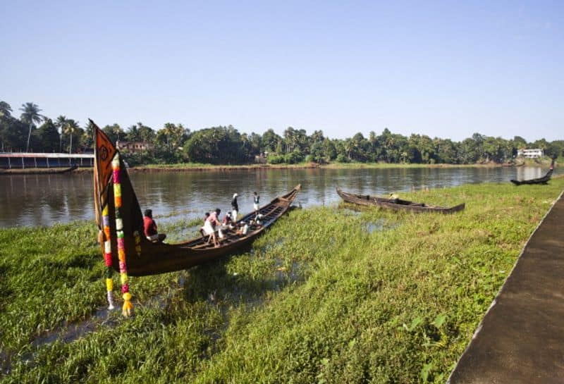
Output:
[[410,202],[409,200],[403,199],[388,199],[386,197],[376,197],[369,194],[353,194],[344,192],[339,188],[337,188],[337,194],[348,203],[379,206],[381,208],[395,209],[396,211],[453,213],[462,211],[462,209],[465,208],[465,203],[446,208],[443,206],[432,206],[424,203]]

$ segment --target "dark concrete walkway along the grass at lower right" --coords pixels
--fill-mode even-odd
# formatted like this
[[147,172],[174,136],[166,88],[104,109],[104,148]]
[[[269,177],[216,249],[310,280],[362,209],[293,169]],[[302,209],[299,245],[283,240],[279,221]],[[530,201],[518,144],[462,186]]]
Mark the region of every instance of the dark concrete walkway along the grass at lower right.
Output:
[[563,194],[527,242],[447,383],[564,383]]

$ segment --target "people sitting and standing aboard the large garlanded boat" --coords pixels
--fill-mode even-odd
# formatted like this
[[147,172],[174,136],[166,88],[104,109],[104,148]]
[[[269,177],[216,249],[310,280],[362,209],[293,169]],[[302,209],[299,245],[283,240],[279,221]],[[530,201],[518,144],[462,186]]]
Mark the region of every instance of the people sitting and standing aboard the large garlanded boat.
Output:
[[[204,226],[200,228],[202,237],[208,237],[207,244],[214,243],[215,247],[219,247],[219,240],[225,237],[223,231],[235,230],[237,235],[247,235],[250,225],[262,225],[262,215],[259,214],[259,194],[253,193],[252,207],[255,210],[255,218],[250,223],[238,223],[237,216],[239,213],[239,204],[237,202],[238,194],[233,194],[231,199],[231,211],[226,213],[223,221],[219,221],[219,214],[221,209],[216,208],[212,213],[206,212],[204,217]],[[166,235],[159,233],[157,230],[157,223],[153,219],[153,212],[151,209],[145,210],[145,217],[143,218],[143,227],[145,230],[145,237],[152,242],[162,242]],[[219,237],[219,239],[218,239]]]

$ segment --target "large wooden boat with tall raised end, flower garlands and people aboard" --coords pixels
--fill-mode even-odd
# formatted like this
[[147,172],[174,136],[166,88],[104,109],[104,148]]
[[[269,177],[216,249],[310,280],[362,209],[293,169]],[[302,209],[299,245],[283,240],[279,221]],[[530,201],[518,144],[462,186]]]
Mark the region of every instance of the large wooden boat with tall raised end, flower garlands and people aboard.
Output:
[[[118,249],[118,240],[121,242],[123,238],[122,247],[128,275],[142,276],[179,271],[243,249],[288,211],[301,188],[300,185],[297,185],[287,194],[276,197],[269,204],[262,206],[259,209],[259,213],[263,216],[262,225],[250,225],[246,235],[237,235],[234,230],[226,230],[219,247],[207,244],[207,238],[203,237],[179,244],[151,242],[143,234],[143,216],[139,202],[137,202],[123,160],[119,159],[118,149],[95,124],[94,131],[94,205],[96,206],[96,221],[100,229],[99,242],[104,255],[111,254],[111,266],[114,270],[120,271],[118,256],[121,250]],[[119,161],[117,167],[116,159]],[[118,168],[117,178],[116,168]],[[119,186],[117,193],[115,184]],[[121,199],[119,199],[121,201],[116,209],[116,201],[119,201],[116,200],[118,193],[121,194]],[[115,219],[110,220],[109,218]],[[249,223],[253,218],[255,218],[255,213],[249,213],[237,224]],[[123,228],[119,231],[123,235],[118,233],[116,228],[118,225]],[[110,249],[106,247],[108,237],[109,244],[111,244]]]

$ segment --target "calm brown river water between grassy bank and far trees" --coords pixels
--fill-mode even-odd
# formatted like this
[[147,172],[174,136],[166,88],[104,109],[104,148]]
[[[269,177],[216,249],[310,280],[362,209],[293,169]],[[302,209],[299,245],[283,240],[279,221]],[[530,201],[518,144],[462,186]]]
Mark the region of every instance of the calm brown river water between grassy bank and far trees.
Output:
[[[449,187],[475,182],[508,182],[539,178],[546,168],[386,168],[276,169],[238,171],[132,172],[130,178],[141,209],[152,208],[158,222],[198,218],[216,207],[230,209],[239,194],[242,213],[252,211],[252,192],[261,205],[302,184],[302,206],[332,204],[338,185],[348,192],[386,195],[424,187]],[[562,173],[559,168],[555,174]],[[92,173],[1,175],[0,227],[51,225],[92,220]]]

